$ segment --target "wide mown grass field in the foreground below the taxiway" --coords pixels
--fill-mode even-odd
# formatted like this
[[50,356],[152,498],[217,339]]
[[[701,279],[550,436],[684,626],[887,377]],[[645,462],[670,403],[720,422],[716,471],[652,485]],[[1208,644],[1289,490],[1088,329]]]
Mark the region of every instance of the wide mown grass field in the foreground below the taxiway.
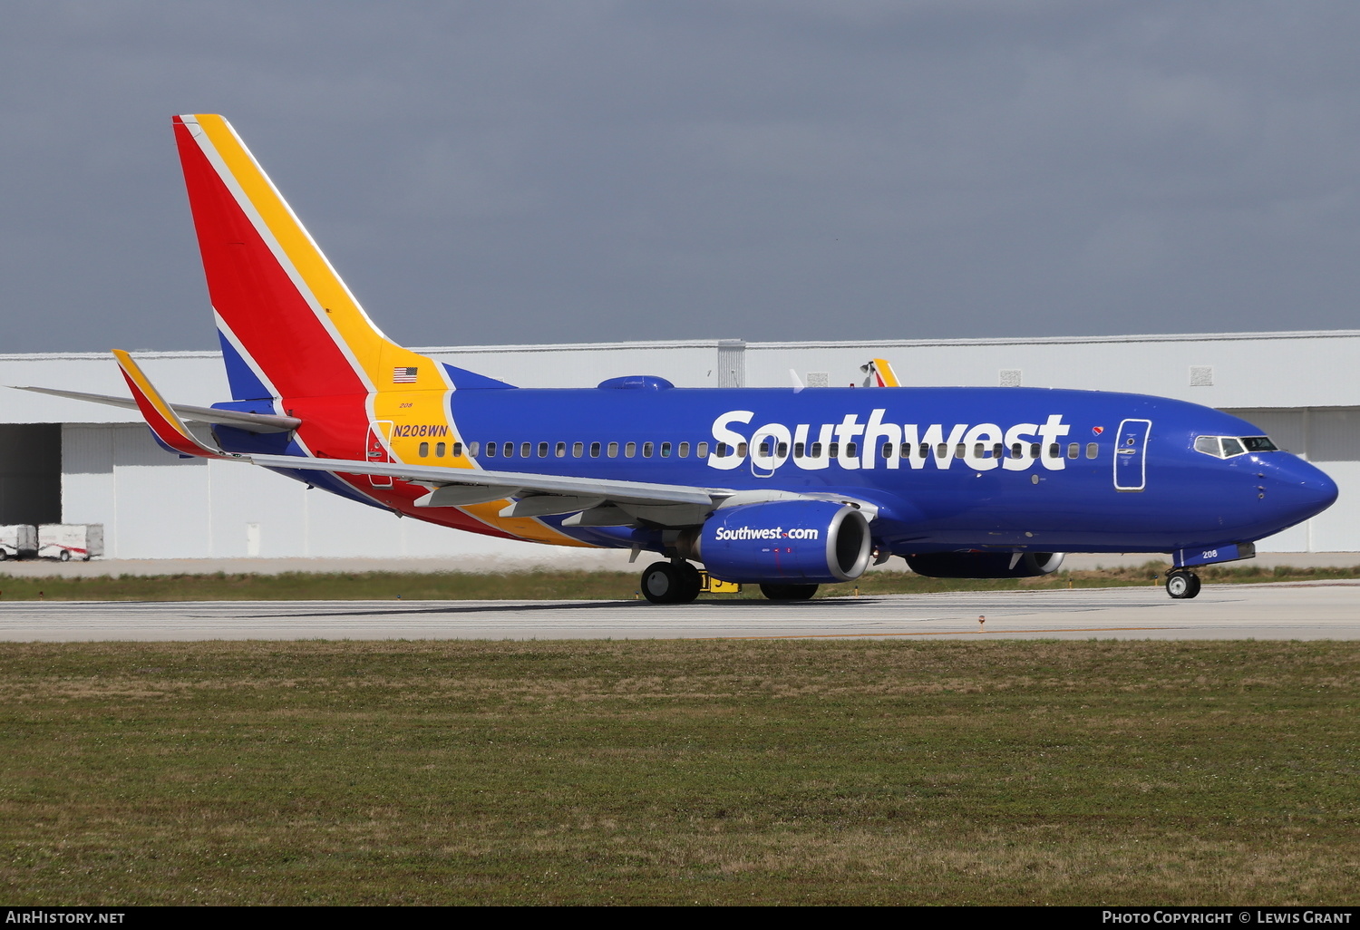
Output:
[[0,644],[52,903],[1360,900],[1360,644]]

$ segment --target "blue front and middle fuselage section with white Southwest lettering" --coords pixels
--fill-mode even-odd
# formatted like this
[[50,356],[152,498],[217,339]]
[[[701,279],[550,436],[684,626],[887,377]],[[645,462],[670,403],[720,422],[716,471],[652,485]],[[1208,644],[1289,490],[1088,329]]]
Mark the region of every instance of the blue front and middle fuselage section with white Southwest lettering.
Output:
[[[879,507],[874,542],[895,553],[1170,552],[1254,541],[1337,495],[1331,479],[1287,451],[1198,451],[1198,436],[1262,434],[1235,416],[1144,394],[511,389],[458,390],[450,404],[483,468],[843,494]],[[567,532],[604,545],[649,538],[626,528]]]

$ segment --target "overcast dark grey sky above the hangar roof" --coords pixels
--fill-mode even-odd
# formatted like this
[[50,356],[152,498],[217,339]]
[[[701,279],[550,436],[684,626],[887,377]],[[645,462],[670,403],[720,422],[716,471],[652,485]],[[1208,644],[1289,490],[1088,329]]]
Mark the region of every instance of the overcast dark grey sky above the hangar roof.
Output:
[[413,345],[1360,328],[1360,4],[14,1],[0,352],[215,347],[170,116]]

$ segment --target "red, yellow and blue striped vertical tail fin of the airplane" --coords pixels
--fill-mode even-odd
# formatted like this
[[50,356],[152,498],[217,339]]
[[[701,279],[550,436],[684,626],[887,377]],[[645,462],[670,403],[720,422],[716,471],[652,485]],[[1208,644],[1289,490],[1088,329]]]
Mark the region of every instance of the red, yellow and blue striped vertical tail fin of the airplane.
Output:
[[177,116],[174,132],[237,400],[366,394],[428,370],[373,325],[226,120]]

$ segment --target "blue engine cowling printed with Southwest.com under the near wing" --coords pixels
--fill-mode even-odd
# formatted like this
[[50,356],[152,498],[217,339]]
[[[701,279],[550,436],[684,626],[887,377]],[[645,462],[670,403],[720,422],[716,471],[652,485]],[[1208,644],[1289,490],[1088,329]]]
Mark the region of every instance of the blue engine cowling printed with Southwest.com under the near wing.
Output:
[[850,504],[771,500],[718,510],[696,556],[724,581],[853,581],[869,566],[869,521]]

